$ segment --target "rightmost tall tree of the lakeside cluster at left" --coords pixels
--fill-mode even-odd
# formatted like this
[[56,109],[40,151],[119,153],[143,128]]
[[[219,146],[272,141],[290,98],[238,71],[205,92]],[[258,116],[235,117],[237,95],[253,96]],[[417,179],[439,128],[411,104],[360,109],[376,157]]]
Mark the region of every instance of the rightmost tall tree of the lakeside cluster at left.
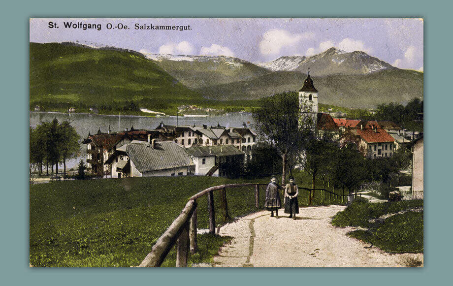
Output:
[[59,148],[59,154],[64,165],[64,174],[66,175],[66,160],[74,158],[80,151],[78,140],[80,139],[79,134],[74,127],[70,125],[69,121],[63,121],[60,125],[60,141],[57,143]]

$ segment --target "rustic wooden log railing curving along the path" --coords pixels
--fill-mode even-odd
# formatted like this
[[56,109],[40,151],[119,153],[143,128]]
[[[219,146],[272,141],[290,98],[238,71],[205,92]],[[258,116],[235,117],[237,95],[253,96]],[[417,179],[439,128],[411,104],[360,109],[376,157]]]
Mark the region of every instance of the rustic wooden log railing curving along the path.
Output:
[[[145,259],[138,267],[160,267],[166,255],[171,248],[176,245],[176,267],[187,267],[189,252],[191,254],[197,251],[196,231],[197,231],[197,203],[196,200],[204,195],[207,196],[208,212],[209,212],[209,233],[215,233],[216,214],[214,209],[214,193],[213,191],[221,191],[220,211],[224,219],[229,219],[228,204],[227,204],[227,188],[255,186],[255,204],[257,209],[259,205],[259,186],[267,186],[263,183],[248,183],[248,184],[229,184],[220,185],[200,191],[189,198],[186,206],[181,214],[171,223],[168,229],[162,234],[151,252],[146,255]],[[336,194],[325,189],[308,189],[299,187],[299,190],[309,191],[309,202],[311,204],[312,191],[321,191],[322,200],[325,201],[326,193],[329,196],[329,202],[347,203],[347,196]],[[300,193],[300,191],[299,191]]]

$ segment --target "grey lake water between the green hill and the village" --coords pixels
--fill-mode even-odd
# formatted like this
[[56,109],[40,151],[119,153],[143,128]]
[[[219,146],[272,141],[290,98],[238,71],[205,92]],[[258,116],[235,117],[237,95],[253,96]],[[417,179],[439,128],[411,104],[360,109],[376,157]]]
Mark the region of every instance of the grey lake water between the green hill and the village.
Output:
[[[86,138],[88,133],[96,134],[100,129],[102,132],[107,132],[108,128],[112,132],[118,130],[130,129],[154,129],[159,126],[161,121],[166,125],[197,125],[201,126],[217,126],[220,124],[225,127],[242,127],[245,122],[250,126],[252,116],[250,113],[231,113],[222,116],[208,116],[208,117],[140,117],[140,116],[110,116],[98,114],[82,114],[82,113],[47,113],[47,112],[30,112],[30,125],[36,125],[45,121],[52,121],[56,118],[59,122],[69,120],[72,127],[75,128],[77,133],[82,138]],[[83,139],[80,140],[82,142]],[[80,157],[68,160],[66,163],[67,168],[74,167],[80,159],[86,159],[86,146],[81,144]]]

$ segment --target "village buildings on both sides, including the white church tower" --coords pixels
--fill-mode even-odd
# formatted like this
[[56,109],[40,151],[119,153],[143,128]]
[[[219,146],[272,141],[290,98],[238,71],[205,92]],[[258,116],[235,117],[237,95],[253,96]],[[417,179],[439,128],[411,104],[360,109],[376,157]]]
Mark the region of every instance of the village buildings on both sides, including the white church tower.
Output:
[[[399,148],[414,148],[414,172],[422,174],[422,133],[398,127],[391,121],[349,120],[318,113],[318,90],[308,77],[300,89],[299,104],[308,103],[316,129],[329,132],[339,145],[354,143],[366,158],[389,158]],[[110,129],[88,134],[87,171],[105,178],[148,176],[238,177],[253,160],[257,133],[242,127],[170,126],[162,121],[153,129]],[[419,147],[420,146],[420,147]],[[421,176],[422,178],[422,176]],[[423,182],[417,178],[414,198],[422,198]]]

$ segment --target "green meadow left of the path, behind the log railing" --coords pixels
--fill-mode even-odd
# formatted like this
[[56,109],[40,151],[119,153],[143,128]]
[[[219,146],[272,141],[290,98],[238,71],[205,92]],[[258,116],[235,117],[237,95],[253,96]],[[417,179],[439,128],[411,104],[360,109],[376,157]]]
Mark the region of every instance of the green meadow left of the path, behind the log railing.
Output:
[[[295,173],[299,186],[310,185],[309,176]],[[257,180],[216,177],[154,177],[52,182],[30,190],[30,261],[33,266],[129,267],[138,265],[188,197],[207,187]],[[265,192],[261,187],[260,203]],[[214,192],[216,223],[220,193]],[[256,211],[254,188],[227,191],[231,217]],[[207,202],[198,202],[198,227],[207,228]],[[325,202],[327,203],[327,202]],[[308,204],[300,191],[299,204]],[[315,204],[321,204],[316,193]],[[200,237],[200,254],[192,262],[209,260],[228,238]],[[164,265],[174,266],[170,253]]]

